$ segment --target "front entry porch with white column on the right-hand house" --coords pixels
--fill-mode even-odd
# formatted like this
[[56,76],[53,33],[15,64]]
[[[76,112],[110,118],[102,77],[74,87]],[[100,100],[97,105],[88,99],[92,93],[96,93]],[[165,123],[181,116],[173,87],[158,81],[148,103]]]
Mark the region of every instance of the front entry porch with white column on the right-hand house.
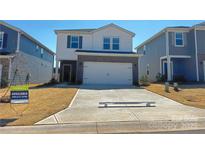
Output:
[[160,73],[166,81],[196,81],[195,66],[189,56],[169,56],[160,58]]

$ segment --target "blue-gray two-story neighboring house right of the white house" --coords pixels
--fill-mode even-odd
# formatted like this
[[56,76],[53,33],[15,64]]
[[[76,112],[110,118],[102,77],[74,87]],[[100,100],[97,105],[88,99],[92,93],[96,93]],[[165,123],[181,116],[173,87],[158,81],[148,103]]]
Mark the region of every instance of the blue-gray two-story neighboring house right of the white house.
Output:
[[205,23],[192,27],[167,27],[135,48],[143,54],[139,76],[156,81],[161,73],[167,81],[205,81]]

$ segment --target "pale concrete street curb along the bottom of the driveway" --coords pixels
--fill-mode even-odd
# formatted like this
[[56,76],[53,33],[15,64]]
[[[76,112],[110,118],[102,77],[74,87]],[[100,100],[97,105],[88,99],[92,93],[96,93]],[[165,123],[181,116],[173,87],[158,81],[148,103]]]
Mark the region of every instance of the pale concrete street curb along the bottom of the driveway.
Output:
[[0,134],[118,134],[167,133],[173,131],[205,130],[205,119],[174,121],[110,121],[84,122],[56,125],[1,127]]

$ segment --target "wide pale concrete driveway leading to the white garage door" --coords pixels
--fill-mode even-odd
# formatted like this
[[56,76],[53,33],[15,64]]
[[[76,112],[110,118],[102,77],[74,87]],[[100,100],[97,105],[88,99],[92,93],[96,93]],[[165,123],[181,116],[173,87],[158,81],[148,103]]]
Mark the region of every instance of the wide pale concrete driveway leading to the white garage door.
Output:
[[82,86],[71,107],[37,124],[204,120],[205,110],[135,87]]

